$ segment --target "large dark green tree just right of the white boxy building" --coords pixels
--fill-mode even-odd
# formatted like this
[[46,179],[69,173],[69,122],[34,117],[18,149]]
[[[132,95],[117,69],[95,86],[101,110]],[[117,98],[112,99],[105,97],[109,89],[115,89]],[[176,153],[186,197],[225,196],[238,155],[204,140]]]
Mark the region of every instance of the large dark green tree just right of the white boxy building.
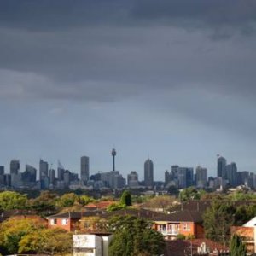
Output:
[[164,253],[164,237],[151,228],[152,224],[134,216],[113,217],[108,228],[113,232],[110,256],[153,256]]

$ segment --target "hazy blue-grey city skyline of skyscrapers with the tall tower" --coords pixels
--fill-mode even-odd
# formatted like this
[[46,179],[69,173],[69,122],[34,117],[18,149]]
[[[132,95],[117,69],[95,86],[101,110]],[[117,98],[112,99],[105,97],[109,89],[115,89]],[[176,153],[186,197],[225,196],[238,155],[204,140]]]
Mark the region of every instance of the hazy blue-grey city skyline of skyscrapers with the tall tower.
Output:
[[126,179],[115,168],[116,150],[113,149],[113,168],[110,172],[98,172],[90,175],[90,159],[88,156],[80,158],[80,178],[78,173],[65,169],[61,162],[55,171],[49,168],[47,161],[39,160],[39,173],[33,166],[26,165],[25,171],[20,172],[20,160],[11,160],[9,173],[4,172],[4,166],[0,166],[0,187],[12,189],[154,189],[156,185],[162,189],[173,186],[184,189],[190,186],[197,188],[218,189],[221,187],[236,187],[245,184],[256,188],[256,175],[252,172],[238,172],[236,163],[227,164],[227,160],[218,155],[217,177],[208,177],[207,168],[202,166],[183,167],[171,166],[171,170],[165,172],[165,182],[154,181],[154,163],[148,158],[144,162],[144,180],[139,181],[138,173],[131,171]]

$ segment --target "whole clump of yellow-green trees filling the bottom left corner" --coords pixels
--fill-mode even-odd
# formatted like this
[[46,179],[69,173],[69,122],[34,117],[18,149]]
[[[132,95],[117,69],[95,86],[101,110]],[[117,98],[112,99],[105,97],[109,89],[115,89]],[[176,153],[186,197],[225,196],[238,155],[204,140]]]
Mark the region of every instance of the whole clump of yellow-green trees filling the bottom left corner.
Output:
[[0,225],[0,251],[13,253],[46,253],[49,255],[72,252],[72,235],[62,229],[47,229],[40,218],[10,218]]

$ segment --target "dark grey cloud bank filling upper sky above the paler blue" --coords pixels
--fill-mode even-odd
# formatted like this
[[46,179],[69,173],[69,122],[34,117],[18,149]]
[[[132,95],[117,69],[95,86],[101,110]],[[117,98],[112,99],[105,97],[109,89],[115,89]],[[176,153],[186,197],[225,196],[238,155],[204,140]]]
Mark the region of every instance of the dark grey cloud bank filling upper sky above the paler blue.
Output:
[[256,100],[255,19],[253,0],[2,1],[0,98],[119,102],[147,93],[167,112],[229,129],[238,119],[250,125],[236,130],[251,134],[243,106]]

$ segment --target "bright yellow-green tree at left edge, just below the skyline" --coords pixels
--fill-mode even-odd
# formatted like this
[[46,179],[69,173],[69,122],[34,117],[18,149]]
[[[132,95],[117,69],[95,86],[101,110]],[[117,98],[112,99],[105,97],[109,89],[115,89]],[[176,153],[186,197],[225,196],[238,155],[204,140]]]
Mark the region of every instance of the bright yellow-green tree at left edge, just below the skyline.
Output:
[[0,208],[3,210],[26,208],[27,197],[14,191],[4,191],[0,193]]

